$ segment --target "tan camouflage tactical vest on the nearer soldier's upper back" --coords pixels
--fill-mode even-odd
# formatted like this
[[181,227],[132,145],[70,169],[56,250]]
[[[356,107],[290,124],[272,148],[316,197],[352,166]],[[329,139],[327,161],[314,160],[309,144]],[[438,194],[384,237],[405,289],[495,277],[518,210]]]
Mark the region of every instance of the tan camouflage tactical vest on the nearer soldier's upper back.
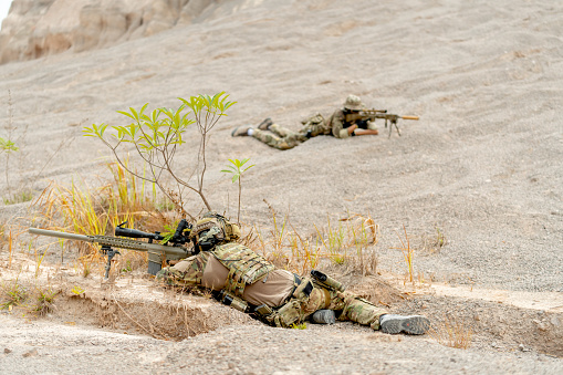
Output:
[[262,256],[236,242],[216,246],[211,254],[229,269],[225,290],[240,298],[247,285],[253,284],[275,268]]

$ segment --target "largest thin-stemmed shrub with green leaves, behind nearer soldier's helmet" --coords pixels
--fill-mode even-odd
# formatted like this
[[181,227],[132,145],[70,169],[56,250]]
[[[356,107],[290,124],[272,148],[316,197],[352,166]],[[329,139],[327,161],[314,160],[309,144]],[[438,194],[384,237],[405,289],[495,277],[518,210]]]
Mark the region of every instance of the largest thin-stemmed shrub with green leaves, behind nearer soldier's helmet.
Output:
[[[222,116],[226,116],[226,111],[236,103],[227,101],[228,97],[229,95],[226,95],[225,92],[213,96],[190,96],[188,100],[179,97],[178,100],[183,104],[176,111],[160,107],[150,113],[145,113],[148,106],[146,103],[138,111],[133,107],[129,107],[128,111],[118,111],[133,122],[124,126],[112,126],[111,135],[106,135],[108,127],[106,124],[93,124],[92,127],[85,127],[84,135],[100,138],[127,173],[156,184],[181,215],[194,219],[184,208],[184,191],[188,189],[196,192],[206,208],[211,210],[204,191],[204,178],[207,169],[206,147],[210,131]],[[191,124],[196,124],[200,135],[199,147],[196,152],[197,163],[187,174],[188,177],[183,178],[175,170],[174,157],[178,147],[186,143],[184,136]],[[136,157],[146,166],[148,176],[140,175],[126,165],[121,152],[125,148],[122,146],[125,145],[134,147]],[[190,181],[194,175],[197,178],[196,184]],[[176,185],[175,190],[167,187],[167,178]]]

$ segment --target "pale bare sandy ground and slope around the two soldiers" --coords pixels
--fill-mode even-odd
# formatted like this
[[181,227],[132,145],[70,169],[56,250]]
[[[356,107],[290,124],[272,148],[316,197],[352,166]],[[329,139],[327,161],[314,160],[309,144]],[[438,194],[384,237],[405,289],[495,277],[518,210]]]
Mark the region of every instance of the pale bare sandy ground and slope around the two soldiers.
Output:
[[[19,132],[27,128],[21,153],[10,160],[11,184],[20,179],[41,191],[50,180],[65,183],[76,176],[93,180],[106,174],[101,162],[107,149],[82,137],[82,125],[121,124],[123,118],[115,111],[128,106],[149,102],[175,107],[178,96],[226,91],[238,103],[215,129],[208,148],[207,187],[213,208],[236,215],[237,187],[220,169],[228,158],[250,157],[256,166],[244,179],[246,222],[270,222],[264,199],[278,212],[289,212],[292,225],[305,235],[313,233],[314,223],[325,223],[327,216],[369,213],[382,231],[376,251],[384,274],[405,272],[402,252],[392,249],[399,244],[397,231],[405,226],[420,250],[416,269],[431,277],[436,287],[428,300],[404,308],[426,310],[429,316],[432,309],[434,313],[457,310],[472,319],[475,311],[482,311],[481,332],[491,331],[469,351],[432,346],[427,337],[356,342],[371,348],[366,360],[371,365],[354,360],[350,367],[330,363],[315,367],[320,356],[313,350],[311,356],[288,355],[296,367],[279,360],[280,373],[477,373],[473,363],[492,366],[482,373],[556,373],[561,360],[541,354],[539,344],[531,354],[523,352],[512,335],[518,331],[521,341],[534,336],[536,343],[550,342],[551,354],[563,347],[562,22],[562,6],[546,0],[226,1],[192,25],[149,39],[2,65],[2,107],[8,108],[10,90],[13,124]],[[230,137],[234,126],[258,124],[268,116],[298,129],[302,117],[316,111],[329,114],[351,93],[371,107],[418,115],[420,121],[402,122],[402,137],[387,137],[379,124],[378,136],[317,137],[286,152],[256,139]],[[8,121],[2,111],[0,124]],[[196,146],[195,140],[188,142],[177,157],[178,168],[190,165],[189,149]],[[6,181],[0,184],[6,190]],[[201,208],[196,196],[189,201],[195,211]],[[1,209],[2,217],[11,218],[24,207]],[[439,251],[425,249],[425,239],[435,238],[437,228],[446,246]],[[497,310],[498,305],[505,310]],[[24,373],[10,355],[21,358],[25,351],[42,345],[22,337],[32,336],[34,324],[43,327],[43,323],[1,319],[2,327],[15,326],[2,331],[2,336],[13,335],[13,345],[21,346],[3,356],[0,353],[0,364]],[[264,336],[264,327],[251,326],[250,337]],[[53,330],[53,335],[61,332],[53,340],[65,342],[64,330],[49,324],[41,330]],[[105,347],[110,348],[144,341],[145,347],[156,345],[159,353],[168,353],[165,357],[186,356],[181,360],[186,363],[196,352],[186,354],[183,348],[198,346],[191,344],[198,340],[205,346],[221,334],[231,340],[229,345],[236,342],[244,346],[252,338],[237,325],[232,332],[215,331],[176,344],[81,326],[72,330],[82,330],[80,335],[87,337],[107,335],[111,344]],[[303,333],[303,340],[323,346],[322,330]],[[272,332],[288,343],[296,334]],[[344,338],[334,341],[354,343],[355,334],[345,331]],[[505,336],[512,337],[509,346],[503,346]],[[3,340],[1,345],[8,347],[11,338]],[[43,373],[66,373],[59,361],[73,363],[83,353],[73,346],[70,357],[62,360],[60,348],[70,344],[61,345],[39,356],[42,362],[38,363],[56,365]],[[409,345],[415,345],[411,351]],[[282,347],[273,345],[270,353],[282,353]],[[374,354],[379,351],[382,356]],[[237,355],[237,364],[226,371],[275,372],[265,362],[258,369],[246,367],[246,354]],[[439,358],[432,361],[434,367],[427,367],[428,356]],[[39,361],[33,355],[25,358]],[[84,363],[119,363],[113,353],[103,352],[96,358]],[[138,363],[138,357],[129,360],[131,366]],[[341,360],[347,361],[344,355]],[[163,360],[138,372],[204,371],[174,364]],[[208,365],[207,371],[216,368],[211,362]],[[42,367],[32,368],[42,372]]]

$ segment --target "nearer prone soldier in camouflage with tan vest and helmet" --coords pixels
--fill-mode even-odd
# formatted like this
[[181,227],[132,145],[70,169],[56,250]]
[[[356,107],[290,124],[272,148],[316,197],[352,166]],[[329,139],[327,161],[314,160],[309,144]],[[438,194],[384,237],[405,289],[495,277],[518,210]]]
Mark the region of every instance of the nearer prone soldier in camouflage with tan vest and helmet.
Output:
[[290,327],[310,319],[332,324],[336,319],[368,325],[385,333],[424,334],[425,316],[389,314],[344,290],[319,271],[311,277],[277,269],[262,256],[237,243],[240,229],[225,217],[206,213],[194,226],[197,254],[164,268],[157,279],[168,284],[210,289],[213,296],[274,326]]

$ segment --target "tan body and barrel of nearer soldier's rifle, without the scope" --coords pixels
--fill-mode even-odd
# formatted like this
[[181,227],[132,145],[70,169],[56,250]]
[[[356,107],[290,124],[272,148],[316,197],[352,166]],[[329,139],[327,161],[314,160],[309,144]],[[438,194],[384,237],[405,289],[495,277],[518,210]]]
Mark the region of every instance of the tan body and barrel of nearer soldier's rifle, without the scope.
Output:
[[102,246],[102,251],[107,254],[107,264],[105,268],[105,278],[110,275],[111,261],[118,251],[113,248],[127,249],[134,251],[146,251],[148,253],[148,270],[150,274],[156,274],[163,268],[163,263],[169,260],[180,260],[192,254],[192,252],[185,246],[168,246],[160,243],[149,243],[144,241],[131,240],[127,238],[118,238],[112,236],[84,236],[75,233],[65,233],[55,230],[30,228],[31,235],[56,237],[66,240],[85,241],[91,243],[98,243]]

